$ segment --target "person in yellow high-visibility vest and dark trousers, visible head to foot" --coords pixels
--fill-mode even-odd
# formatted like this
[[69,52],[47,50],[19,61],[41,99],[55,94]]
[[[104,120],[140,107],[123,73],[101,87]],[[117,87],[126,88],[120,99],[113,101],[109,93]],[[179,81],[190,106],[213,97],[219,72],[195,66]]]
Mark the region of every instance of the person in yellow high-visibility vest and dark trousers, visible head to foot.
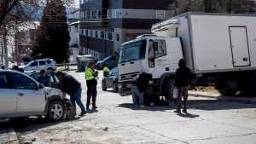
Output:
[[87,103],[86,109],[89,110],[90,98],[92,99],[92,109],[96,109],[96,95],[97,95],[97,72],[95,72],[95,62],[90,62],[89,66],[85,68],[85,80],[87,85]]

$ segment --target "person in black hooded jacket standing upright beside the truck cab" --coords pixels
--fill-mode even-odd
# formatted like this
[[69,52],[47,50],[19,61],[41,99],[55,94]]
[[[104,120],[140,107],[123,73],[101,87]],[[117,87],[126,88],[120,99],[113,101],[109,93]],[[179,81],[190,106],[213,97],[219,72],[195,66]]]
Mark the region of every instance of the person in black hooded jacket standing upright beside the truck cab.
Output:
[[183,97],[183,112],[187,113],[188,104],[188,90],[192,80],[192,73],[186,66],[185,60],[179,60],[179,68],[176,71],[175,86],[177,88],[177,110],[175,112],[181,113],[182,97]]

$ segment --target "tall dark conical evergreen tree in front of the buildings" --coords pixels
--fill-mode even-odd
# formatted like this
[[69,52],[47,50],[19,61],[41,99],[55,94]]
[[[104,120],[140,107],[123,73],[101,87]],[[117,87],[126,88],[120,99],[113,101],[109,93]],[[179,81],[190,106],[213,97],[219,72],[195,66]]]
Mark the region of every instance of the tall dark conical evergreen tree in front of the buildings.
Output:
[[51,0],[44,8],[32,56],[68,61],[69,40],[66,9],[61,0]]

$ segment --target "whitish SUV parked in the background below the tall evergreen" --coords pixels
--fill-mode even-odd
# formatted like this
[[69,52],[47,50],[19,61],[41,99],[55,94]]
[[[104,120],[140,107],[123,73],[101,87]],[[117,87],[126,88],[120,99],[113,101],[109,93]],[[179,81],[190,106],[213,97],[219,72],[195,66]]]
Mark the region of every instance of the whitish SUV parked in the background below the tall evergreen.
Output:
[[41,60],[32,60],[25,66],[19,66],[24,71],[40,71],[40,70],[47,70],[47,71],[54,71],[56,67],[55,60],[52,59],[41,59]]

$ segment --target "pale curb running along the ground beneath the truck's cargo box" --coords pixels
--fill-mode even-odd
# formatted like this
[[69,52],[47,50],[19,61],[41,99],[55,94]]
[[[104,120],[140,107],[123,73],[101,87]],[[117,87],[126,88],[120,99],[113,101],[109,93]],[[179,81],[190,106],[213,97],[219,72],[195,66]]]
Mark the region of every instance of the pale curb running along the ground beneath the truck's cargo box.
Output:
[[201,94],[189,94],[189,95],[194,97],[210,98],[210,99],[215,99],[219,101],[231,101],[231,102],[239,102],[244,104],[256,105],[256,99],[253,99],[253,98],[242,98],[242,97],[232,97],[232,96],[212,96],[212,95],[201,95]]

